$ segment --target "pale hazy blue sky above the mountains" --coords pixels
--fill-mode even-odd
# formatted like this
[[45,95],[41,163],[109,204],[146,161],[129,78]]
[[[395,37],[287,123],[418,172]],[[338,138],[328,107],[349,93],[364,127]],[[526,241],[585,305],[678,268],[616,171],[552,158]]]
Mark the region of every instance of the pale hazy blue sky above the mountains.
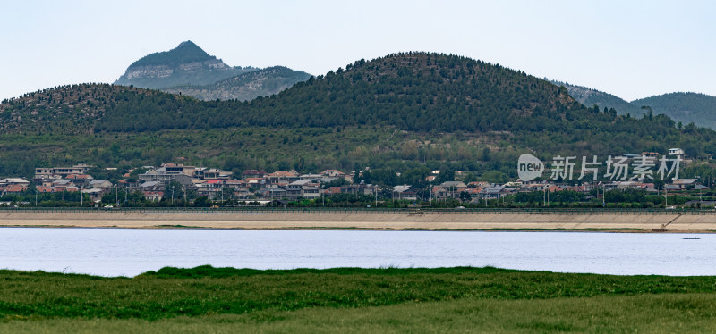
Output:
[[460,54],[626,100],[716,96],[713,1],[3,1],[0,98],[113,82],[191,39],[232,66],[325,74],[401,51]]

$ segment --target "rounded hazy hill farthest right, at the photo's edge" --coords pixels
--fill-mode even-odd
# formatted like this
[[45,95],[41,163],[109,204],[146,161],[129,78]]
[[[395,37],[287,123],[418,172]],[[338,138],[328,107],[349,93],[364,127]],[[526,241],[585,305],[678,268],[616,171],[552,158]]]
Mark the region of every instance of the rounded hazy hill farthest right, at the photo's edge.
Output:
[[716,97],[697,93],[669,93],[632,101],[633,105],[648,105],[653,113],[663,113],[674,121],[695,123],[696,126],[716,129]]

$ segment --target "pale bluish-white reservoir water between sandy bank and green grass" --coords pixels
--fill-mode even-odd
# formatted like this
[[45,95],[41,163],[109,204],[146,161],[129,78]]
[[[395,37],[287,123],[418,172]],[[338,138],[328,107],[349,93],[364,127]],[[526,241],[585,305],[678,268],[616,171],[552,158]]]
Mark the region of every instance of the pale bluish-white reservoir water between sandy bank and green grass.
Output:
[[685,276],[716,275],[714,263],[716,234],[0,228],[0,268],[101,276],[202,264],[254,269],[490,265]]

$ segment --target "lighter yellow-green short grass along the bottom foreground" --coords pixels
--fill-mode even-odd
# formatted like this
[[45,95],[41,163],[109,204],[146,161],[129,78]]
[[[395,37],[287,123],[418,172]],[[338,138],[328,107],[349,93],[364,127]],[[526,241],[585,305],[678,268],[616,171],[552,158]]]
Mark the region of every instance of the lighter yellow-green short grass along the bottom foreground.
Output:
[[596,296],[533,300],[465,299],[382,307],[212,314],[158,321],[59,318],[9,321],[13,333],[235,332],[713,332],[716,296]]

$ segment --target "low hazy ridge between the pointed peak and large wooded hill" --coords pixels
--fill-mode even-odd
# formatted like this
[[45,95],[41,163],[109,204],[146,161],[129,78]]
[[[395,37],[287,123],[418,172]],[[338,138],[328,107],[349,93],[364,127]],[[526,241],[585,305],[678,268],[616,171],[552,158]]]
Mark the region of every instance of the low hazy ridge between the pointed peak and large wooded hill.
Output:
[[252,100],[258,96],[270,96],[294,86],[296,82],[309,79],[310,74],[294,71],[283,66],[249,71],[216,83],[199,86],[184,85],[162,88],[172,94],[193,96],[201,100]]

